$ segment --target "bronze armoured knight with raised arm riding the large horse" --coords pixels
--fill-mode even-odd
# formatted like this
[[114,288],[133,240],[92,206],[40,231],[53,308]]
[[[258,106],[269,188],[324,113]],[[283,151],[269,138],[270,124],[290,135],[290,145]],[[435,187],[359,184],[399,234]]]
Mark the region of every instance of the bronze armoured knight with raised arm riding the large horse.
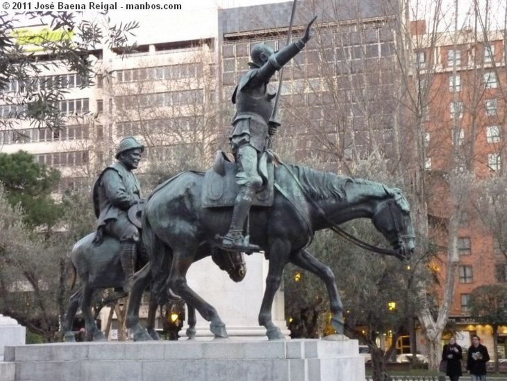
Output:
[[[415,236],[410,207],[399,189],[281,161],[274,165],[277,160],[268,147],[280,125],[276,120],[278,97],[268,92],[267,85],[276,71],[310,40],[314,21],[315,18],[309,22],[300,40],[278,52],[263,44],[252,47],[250,70],[240,78],[232,96],[236,114],[230,141],[235,162],[219,153],[213,168],[206,174],[182,172],[160,184],[143,203],[140,236],[148,262],[133,276],[126,321],[135,340],[153,338],[139,324],[139,306],[147,288],[157,302],[168,300],[172,290],[185,300],[189,315],[191,309],[197,309],[210,322],[210,330],[216,337],[228,336],[216,309],[187,284],[186,274],[192,263],[209,255],[215,262],[232,263],[227,268],[232,268],[236,275],[231,277],[240,280],[244,267],[237,264],[242,263],[242,253],[264,252],[269,270],[259,324],[266,327],[269,339],[284,338],[272,321],[271,307],[288,262],[315,273],[325,283],[330,298],[331,324],[337,333],[343,333],[343,306],[335,276],[307,250],[315,231],[331,228],[353,240],[338,225],[356,218],[368,218],[391,249],[373,248],[365,243],[360,244],[362,247],[401,259],[412,255]],[[88,253],[95,250],[90,246],[92,240],[93,237],[85,237],[82,243],[76,244],[73,251],[76,267],[79,268],[78,261],[74,258],[80,256],[79,253],[87,253],[83,257],[91,258]],[[121,256],[116,254],[115,268],[118,270],[121,268],[119,258],[124,252],[132,253],[133,249],[120,244],[119,240],[114,242],[116,252],[122,253]],[[81,247],[87,249],[81,250]],[[100,261],[90,263],[90,267],[100,267]],[[86,266],[83,268],[82,271],[78,269],[84,282],[82,309],[90,301],[91,288],[86,286],[87,282],[93,283],[90,271]],[[226,266],[223,264],[221,268],[226,269]],[[104,286],[103,283],[100,286]],[[77,306],[72,308],[77,309]],[[85,320],[87,329],[92,329],[93,320]]]

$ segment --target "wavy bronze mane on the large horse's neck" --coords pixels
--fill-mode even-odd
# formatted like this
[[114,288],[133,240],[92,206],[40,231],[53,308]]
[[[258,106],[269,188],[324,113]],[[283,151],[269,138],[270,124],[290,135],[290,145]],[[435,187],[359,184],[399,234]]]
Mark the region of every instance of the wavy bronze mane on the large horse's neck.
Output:
[[313,199],[339,197],[346,199],[345,184],[352,182],[349,177],[338,176],[332,172],[321,172],[304,166],[285,164],[299,180],[305,192]]

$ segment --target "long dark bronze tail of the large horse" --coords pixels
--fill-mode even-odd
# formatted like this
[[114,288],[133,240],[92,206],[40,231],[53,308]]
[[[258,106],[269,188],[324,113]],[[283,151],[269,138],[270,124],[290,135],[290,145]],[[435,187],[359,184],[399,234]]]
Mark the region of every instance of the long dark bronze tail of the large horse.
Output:
[[151,263],[152,295],[159,304],[165,303],[169,298],[167,280],[171,268],[172,250],[157,237],[148,220],[147,213],[142,214],[142,241]]

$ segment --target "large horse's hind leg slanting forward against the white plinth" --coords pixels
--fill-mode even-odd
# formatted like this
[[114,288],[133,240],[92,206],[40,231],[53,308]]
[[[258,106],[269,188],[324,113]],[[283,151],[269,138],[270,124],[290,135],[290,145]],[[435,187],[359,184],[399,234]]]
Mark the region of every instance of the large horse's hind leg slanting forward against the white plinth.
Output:
[[[196,248],[193,247],[191,240],[182,239],[182,248],[173,248],[173,259],[171,272],[169,274],[169,287],[179,296],[181,296],[189,306],[195,307],[201,316],[208,322],[211,322],[209,329],[215,337],[228,337],[224,322],[220,319],[216,309],[199,295],[195,293],[187,284],[187,271],[194,261]],[[185,246],[185,244],[188,244]],[[191,248],[191,249],[189,249]]]

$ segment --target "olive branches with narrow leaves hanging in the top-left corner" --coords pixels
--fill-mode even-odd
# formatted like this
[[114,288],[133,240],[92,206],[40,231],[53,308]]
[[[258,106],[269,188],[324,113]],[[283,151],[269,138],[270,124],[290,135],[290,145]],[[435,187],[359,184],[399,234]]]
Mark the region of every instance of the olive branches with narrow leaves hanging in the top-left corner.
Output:
[[[17,33],[16,28],[26,20],[49,25],[51,31],[33,36]],[[137,22],[112,25],[105,13],[85,20],[82,13],[0,12],[0,103],[7,110],[7,118],[0,119],[0,131],[11,131],[14,140],[23,140],[26,136],[13,128],[16,120],[29,120],[37,128],[63,126],[58,101],[66,86],[45,80],[42,73],[64,67],[77,73],[80,87],[85,88],[95,80],[93,51],[104,45],[121,52],[134,50],[128,38],[137,27]]]

